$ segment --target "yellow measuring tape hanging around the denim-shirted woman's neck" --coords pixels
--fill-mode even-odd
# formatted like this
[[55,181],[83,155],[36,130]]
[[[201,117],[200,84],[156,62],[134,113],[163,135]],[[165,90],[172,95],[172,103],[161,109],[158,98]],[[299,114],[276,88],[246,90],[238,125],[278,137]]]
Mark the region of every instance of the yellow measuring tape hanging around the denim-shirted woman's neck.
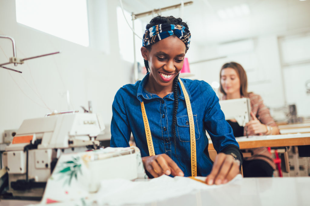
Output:
[[[187,91],[184,87],[184,84],[180,78],[179,78],[179,82],[181,84],[181,88],[182,88],[182,91],[183,91],[183,94],[185,97],[187,115],[188,115],[188,119],[189,119],[189,131],[190,131],[190,137],[191,137],[191,167],[192,167],[192,176],[195,177],[195,176],[197,176],[197,160],[196,160],[196,139],[195,139],[195,126],[194,126],[193,111],[192,111],[191,103],[189,101],[188,93],[187,93]],[[150,126],[148,124],[148,117],[146,116],[143,101],[141,102],[141,110],[142,110],[146,139],[147,139],[147,143],[148,143],[148,152],[149,152],[150,156],[153,156],[153,155],[155,155],[153,140],[152,140],[151,130],[150,130]]]

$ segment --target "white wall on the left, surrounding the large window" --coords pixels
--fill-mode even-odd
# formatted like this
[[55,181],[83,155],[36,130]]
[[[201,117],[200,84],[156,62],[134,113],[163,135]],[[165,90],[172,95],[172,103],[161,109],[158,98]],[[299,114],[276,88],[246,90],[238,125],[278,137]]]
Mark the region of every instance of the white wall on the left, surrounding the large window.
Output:
[[[104,4],[102,2],[105,2]],[[93,103],[93,111],[103,116],[109,124],[112,117],[112,102],[116,91],[124,84],[131,83],[132,64],[122,61],[117,39],[117,1],[89,1],[92,13],[90,36],[100,41],[96,45],[91,40],[90,47],[74,44],[51,36],[33,28],[16,23],[15,1],[0,1],[0,35],[15,39],[17,57],[32,57],[55,51],[60,54],[25,61],[17,67],[23,73],[0,68],[0,133],[7,129],[19,128],[24,119],[43,117],[53,110],[80,110],[88,101]],[[104,7],[106,6],[106,7]],[[106,12],[106,16],[100,13]],[[107,9],[108,8],[108,9]],[[55,14],[57,15],[57,14]],[[105,47],[106,44],[106,47]],[[12,45],[0,38],[0,63],[12,57]],[[7,56],[7,57],[6,57]],[[66,91],[69,90],[71,105],[68,108]],[[2,139],[2,138],[1,138]],[[1,142],[1,140],[0,140]]]

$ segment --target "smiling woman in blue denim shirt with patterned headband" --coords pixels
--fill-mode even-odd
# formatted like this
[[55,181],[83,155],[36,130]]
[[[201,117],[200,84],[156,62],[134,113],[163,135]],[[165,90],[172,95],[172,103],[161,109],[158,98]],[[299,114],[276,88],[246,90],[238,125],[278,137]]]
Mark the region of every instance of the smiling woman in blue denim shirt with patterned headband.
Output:
[[[149,177],[208,175],[208,184],[226,183],[239,173],[242,153],[210,85],[179,81],[189,42],[180,18],[157,16],[146,26],[141,54],[148,74],[117,91],[111,146],[128,147],[132,132]],[[219,153],[213,167],[206,130]]]

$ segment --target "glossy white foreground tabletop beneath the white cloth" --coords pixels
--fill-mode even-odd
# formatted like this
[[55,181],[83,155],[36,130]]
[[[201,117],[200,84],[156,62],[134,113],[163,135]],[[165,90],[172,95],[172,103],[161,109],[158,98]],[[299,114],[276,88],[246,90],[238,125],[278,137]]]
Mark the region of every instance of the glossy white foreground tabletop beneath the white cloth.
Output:
[[[186,186],[184,185],[184,187]],[[22,206],[31,203],[34,202],[0,200],[1,206]],[[310,205],[310,177],[243,178],[223,187],[190,192],[186,195],[168,198],[163,201],[139,205],[304,206]]]

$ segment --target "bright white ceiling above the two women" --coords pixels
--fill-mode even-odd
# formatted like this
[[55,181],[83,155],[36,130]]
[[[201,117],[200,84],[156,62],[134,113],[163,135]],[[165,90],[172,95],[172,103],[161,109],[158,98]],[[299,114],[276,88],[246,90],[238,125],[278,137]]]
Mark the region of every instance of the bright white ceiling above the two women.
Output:
[[[186,0],[184,2],[188,2]],[[268,34],[285,35],[310,31],[310,0],[192,0],[184,6],[183,20],[188,23],[192,42],[224,43]],[[122,0],[124,10],[135,14],[179,4],[180,0]],[[220,9],[246,4],[250,14],[221,19]],[[157,14],[154,14],[157,15]],[[180,17],[179,9],[161,13]],[[152,16],[140,18],[144,25]]]

